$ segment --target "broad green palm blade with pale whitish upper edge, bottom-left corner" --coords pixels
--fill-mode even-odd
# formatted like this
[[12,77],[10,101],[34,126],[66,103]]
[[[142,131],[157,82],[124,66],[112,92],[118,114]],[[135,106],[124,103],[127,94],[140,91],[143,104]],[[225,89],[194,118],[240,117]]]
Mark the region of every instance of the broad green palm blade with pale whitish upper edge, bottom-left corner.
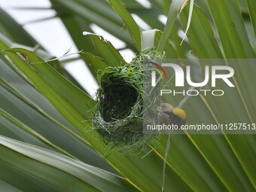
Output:
[[[1,163],[20,172],[26,172],[30,177],[46,183],[51,188],[50,191],[120,191],[120,189],[136,191],[136,188],[117,175],[53,151],[17,142],[3,136],[0,136],[0,143]],[[5,178],[5,180],[9,179]],[[29,182],[24,185],[29,185]],[[45,189],[44,187],[41,191],[45,191]]]

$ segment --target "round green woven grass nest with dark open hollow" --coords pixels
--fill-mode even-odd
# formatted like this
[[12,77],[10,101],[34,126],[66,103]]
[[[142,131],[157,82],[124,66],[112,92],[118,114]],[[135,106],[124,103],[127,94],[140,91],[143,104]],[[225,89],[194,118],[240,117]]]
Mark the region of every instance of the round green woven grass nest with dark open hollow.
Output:
[[105,144],[130,150],[157,137],[143,133],[143,120],[149,120],[143,105],[156,109],[159,97],[156,92],[148,96],[149,91],[145,90],[151,89],[145,85],[151,84],[151,80],[145,81],[151,78],[152,70],[147,63],[148,57],[139,55],[125,66],[108,68],[99,75],[93,127]]

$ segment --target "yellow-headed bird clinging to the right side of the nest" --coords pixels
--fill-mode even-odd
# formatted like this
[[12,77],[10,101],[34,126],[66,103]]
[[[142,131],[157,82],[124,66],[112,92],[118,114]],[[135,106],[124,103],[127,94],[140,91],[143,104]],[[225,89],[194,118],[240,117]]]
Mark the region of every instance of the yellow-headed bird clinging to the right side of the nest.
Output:
[[160,103],[158,109],[158,120],[166,125],[177,125],[178,128],[187,121],[187,114],[181,108],[175,108],[167,102]]

